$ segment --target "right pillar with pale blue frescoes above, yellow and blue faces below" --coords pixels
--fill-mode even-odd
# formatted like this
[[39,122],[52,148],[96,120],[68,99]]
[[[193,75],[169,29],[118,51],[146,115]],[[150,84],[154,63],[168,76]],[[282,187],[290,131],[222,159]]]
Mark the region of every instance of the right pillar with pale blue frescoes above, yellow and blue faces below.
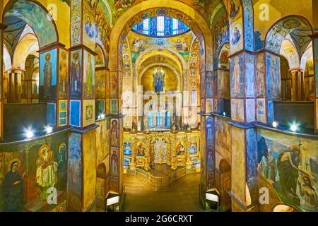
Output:
[[256,89],[254,54],[238,52],[230,57],[232,211],[257,211]]

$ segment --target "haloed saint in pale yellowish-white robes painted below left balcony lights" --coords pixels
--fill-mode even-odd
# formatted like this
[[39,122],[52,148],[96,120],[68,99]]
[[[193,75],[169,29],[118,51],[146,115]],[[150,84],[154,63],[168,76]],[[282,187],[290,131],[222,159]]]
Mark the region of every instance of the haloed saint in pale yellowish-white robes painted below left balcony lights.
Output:
[[37,170],[35,183],[38,191],[40,191],[40,198],[46,201],[49,196],[49,188],[54,188],[57,184],[57,168],[58,164],[55,162],[54,153],[49,145],[42,145],[39,150],[39,157],[36,161]]

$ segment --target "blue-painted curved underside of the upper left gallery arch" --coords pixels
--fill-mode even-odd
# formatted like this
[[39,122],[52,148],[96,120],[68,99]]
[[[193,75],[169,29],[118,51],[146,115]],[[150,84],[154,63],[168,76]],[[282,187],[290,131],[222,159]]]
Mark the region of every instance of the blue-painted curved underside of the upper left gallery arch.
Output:
[[[37,16],[35,16],[35,13]],[[47,8],[35,0],[11,0],[8,1],[4,8],[2,21],[10,23],[12,18],[20,18],[24,20],[35,32],[39,47],[43,48],[59,42],[59,34],[57,25]]]

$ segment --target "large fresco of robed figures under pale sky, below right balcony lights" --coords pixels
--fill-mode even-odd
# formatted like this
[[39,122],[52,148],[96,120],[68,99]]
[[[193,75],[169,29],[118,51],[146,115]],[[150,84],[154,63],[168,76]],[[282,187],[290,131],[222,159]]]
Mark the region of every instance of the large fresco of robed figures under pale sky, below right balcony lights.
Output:
[[318,210],[318,141],[257,130],[258,163],[285,205]]

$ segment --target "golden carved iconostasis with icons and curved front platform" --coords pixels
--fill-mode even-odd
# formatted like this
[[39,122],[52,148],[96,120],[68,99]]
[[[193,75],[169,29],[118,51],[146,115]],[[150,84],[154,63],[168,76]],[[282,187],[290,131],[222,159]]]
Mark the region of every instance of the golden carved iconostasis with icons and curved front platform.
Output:
[[153,186],[169,186],[200,172],[200,131],[124,132],[124,174],[138,174]]

